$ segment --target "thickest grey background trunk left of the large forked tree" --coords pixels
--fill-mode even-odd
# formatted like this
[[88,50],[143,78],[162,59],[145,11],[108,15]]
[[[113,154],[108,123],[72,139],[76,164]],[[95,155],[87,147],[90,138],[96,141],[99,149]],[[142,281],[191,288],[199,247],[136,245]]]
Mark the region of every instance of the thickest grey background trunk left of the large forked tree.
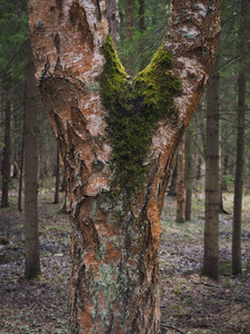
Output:
[[24,237],[26,272],[28,279],[40,274],[38,236],[38,155],[37,155],[37,98],[31,43],[28,51],[24,116]]

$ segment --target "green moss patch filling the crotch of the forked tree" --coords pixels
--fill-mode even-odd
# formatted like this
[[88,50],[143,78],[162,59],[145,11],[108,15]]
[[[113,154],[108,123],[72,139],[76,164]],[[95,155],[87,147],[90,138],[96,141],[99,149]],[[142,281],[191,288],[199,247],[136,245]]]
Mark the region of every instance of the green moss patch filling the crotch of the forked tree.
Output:
[[110,36],[102,53],[106,65],[101,75],[101,96],[109,110],[107,132],[113,148],[114,185],[134,191],[148,170],[143,163],[157,122],[177,116],[173,97],[180,92],[181,82],[170,73],[172,57],[162,47],[134,78],[127,76]]

